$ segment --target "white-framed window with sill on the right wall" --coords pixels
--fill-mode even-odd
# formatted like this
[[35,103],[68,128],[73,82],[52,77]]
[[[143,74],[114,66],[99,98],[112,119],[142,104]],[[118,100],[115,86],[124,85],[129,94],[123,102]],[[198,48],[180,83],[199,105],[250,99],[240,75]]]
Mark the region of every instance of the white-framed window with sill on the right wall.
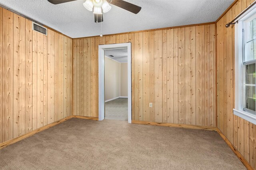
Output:
[[235,27],[234,114],[256,124],[256,6]]

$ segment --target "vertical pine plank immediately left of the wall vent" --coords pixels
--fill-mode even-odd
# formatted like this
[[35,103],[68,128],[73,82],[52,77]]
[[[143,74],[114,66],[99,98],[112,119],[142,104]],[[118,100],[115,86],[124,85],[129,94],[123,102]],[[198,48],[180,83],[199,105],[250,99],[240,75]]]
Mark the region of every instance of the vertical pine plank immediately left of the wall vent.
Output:
[[[1,22],[1,21],[0,21]],[[1,29],[1,27],[0,27]],[[1,32],[1,31],[0,31]],[[32,21],[26,19],[26,96],[25,96],[25,133],[33,130],[33,33],[32,33]],[[1,41],[1,40],[0,40]]]

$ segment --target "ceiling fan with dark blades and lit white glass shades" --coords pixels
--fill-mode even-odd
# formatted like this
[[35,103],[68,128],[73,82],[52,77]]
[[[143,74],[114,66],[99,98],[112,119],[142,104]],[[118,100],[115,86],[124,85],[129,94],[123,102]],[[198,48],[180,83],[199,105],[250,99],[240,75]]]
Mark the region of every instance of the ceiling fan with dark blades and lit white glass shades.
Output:
[[[56,5],[56,4],[62,4],[65,2],[71,2],[71,1],[75,1],[75,0],[48,0],[48,1],[50,3]],[[98,23],[98,22],[103,21],[102,12],[106,13],[111,9],[111,6],[108,3],[118,6],[122,9],[132,12],[134,14],[138,14],[138,12],[140,12],[140,10],[141,10],[140,6],[131,4],[124,0],[86,0],[84,2],[84,7],[89,11],[93,10],[94,21],[96,23]]]

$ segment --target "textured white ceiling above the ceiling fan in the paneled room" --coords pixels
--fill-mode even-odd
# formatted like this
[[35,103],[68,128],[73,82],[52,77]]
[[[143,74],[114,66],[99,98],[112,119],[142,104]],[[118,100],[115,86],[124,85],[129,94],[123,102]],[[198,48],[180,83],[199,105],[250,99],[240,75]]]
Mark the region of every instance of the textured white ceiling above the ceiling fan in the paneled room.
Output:
[[[234,0],[126,0],[142,7],[138,14],[111,5],[102,34],[140,31],[216,21]],[[84,0],[53,5],[47,0],[0,0],[5,8],[28,16],[72,38],[100,35],[100,23]]]

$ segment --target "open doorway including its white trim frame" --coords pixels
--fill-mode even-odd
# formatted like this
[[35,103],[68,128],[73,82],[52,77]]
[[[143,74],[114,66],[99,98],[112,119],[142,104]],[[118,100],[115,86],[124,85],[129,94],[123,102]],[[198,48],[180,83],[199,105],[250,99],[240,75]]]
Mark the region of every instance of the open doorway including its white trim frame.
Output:
[[132,122],[131,84],[131,43],[99,45],[99,121]]

